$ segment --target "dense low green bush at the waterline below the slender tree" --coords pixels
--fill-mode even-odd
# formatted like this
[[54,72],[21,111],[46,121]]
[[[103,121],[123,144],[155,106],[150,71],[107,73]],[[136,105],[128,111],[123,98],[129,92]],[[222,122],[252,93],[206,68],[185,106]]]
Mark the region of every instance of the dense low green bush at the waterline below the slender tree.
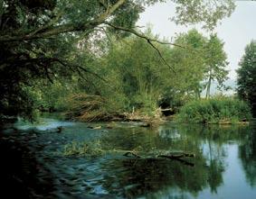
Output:
[[251,119],[251,109],[238,99],[202,99],[185,104],[176,119],[178,122],[193,123],[245,122]]

